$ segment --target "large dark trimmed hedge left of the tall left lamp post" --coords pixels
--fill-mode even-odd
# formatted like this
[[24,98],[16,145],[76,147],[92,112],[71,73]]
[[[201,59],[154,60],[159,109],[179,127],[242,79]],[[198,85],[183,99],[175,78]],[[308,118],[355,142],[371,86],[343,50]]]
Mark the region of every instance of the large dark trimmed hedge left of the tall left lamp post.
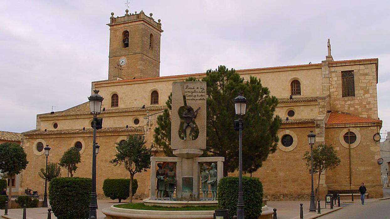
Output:
[[90,178],[53,178],[49,186],[51,210],[58,219],[87,219],[92,180]]

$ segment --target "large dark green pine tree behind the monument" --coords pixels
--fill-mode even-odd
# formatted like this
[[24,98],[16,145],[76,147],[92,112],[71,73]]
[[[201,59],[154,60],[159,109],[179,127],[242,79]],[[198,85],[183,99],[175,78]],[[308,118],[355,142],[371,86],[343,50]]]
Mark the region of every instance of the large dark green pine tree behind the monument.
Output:
[[[261,85],[261,80],[250,77],[245,81],[234,69],[227,69],[225,66],[207,70],[202,81],[207,83],[206,156],[225,157],[225,176],[227,171],[233,172],[238,168],[238,132],[233,127],[233,120],[237,116],[232,100],[242,92],[248,100],[246,115],[243,117],[243,170],[248,173],[256,171],[277,147],[277,131],[282,124],[279,116],[274,116],[277,98],[271,96],[269,89]],[[171,103],[170,98],[167,105],[170,106]],[[168,109],[167,113],[158,116],[159,127],[155,129],[154,135],[155,143],[163,148],[170,146],[170,138],[165,138],[169,141],[164,144],[156,141],[156,138],[159,140],[170,135]],[[166,154],[170,156],[170,153]]]

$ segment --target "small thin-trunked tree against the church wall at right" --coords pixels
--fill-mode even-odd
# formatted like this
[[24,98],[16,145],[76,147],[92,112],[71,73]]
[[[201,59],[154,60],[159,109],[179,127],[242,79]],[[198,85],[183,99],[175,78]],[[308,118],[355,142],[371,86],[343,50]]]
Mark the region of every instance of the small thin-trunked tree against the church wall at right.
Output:
[[[306,160],[306,166],[311,170],[310,151],[306,151],[303,155],[303,160]],[[337,153],[332,145],[320,144],[313,148],[313,173],[318,173],[318,183],[316,196],[319,194],[319,180],[321,173],[325,170],[332,170],[339,166],[341,160],[337,157]]]

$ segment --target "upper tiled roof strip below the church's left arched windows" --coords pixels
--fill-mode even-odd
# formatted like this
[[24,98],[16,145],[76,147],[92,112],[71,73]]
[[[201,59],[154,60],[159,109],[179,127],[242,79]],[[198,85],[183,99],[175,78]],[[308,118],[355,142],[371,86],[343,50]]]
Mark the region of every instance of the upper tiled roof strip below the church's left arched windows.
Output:
[[[154,112],[158,110],[164,110],[165,106],[150,106],[150,107],[129,107],[129,108],[113,108],[106,109],[105,111],[101,111],[101,115],[104,114],[112,114],[112,113],[129,113],[129,112]],[[62,117],[62,116],[83,116],[90,115],[89,102],[82,103],[75,107],[66,109],[64,111],[58,111],[54,113],[45,113],[40,114],[39,118],[54,118],[54,117]]]

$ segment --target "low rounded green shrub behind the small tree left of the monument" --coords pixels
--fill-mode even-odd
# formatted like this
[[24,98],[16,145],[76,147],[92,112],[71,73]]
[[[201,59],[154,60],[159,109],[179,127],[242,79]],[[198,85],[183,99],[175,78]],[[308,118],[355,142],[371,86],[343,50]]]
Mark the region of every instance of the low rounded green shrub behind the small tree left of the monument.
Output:
[[[137,192],[138,181],[133,179],[133,196]],[[122,199],[129,198],[130,194],[130,179],[105,179],[103,182],[103,192],[106,197],[110,199]]]

